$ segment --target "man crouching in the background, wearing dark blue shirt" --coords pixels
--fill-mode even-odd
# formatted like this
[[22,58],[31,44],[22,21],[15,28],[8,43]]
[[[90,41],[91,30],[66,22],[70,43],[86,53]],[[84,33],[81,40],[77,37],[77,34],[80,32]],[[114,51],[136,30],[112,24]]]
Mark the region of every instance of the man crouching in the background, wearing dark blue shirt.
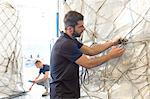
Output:
[[[35,66],[40,68],[40,70],[39,75],[32,82],[44,86],[46,91],[42,94],[42,96],[47,96],[49,88],[49,65],[43,64],[40,60],[37,60],[35,62]],[[44,76],[43,78],[39,79],[41,73],[43,73]]]

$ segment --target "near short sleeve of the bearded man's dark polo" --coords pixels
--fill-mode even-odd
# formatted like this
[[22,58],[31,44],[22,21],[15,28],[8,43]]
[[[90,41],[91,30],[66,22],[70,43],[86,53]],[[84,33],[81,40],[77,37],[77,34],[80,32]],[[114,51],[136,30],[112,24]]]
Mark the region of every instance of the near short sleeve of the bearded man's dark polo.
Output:
[[75,62],[79,57],[82,56],[78,44],[75,42],[65,42],[61,47],[61,55],[67,58],[71,62]]

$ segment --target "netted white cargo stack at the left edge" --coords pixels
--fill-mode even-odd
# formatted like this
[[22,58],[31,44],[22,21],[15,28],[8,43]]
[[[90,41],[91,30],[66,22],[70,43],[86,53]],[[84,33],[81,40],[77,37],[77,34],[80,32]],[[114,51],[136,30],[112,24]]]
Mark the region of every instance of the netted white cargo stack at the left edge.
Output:
[[0,3],[0,98],[23,92],[21,35],[17,11]]

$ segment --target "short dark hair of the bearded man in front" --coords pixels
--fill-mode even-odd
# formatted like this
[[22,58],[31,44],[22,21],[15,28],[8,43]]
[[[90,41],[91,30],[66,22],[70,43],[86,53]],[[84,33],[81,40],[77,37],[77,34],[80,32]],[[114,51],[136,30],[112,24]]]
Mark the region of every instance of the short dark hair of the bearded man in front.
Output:
[[65,25],[65,29],[68,26],[72,26],[75,27],[75,25],[77,25],[78,21],[82,21],[84,19],[84,16],[76,11],[69,11],[65,17],[64,17],[64,25]]

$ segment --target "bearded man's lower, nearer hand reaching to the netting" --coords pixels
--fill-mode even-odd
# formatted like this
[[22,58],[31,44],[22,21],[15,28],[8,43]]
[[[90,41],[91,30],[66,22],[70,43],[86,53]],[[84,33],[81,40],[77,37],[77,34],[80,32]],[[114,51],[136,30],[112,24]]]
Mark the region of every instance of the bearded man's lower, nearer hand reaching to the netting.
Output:
[[108,53],[111,58],[117,58],[120,57],[124,53],[125,49],[123,48],[118,48],[116,46],[113,46],[111,51]]

